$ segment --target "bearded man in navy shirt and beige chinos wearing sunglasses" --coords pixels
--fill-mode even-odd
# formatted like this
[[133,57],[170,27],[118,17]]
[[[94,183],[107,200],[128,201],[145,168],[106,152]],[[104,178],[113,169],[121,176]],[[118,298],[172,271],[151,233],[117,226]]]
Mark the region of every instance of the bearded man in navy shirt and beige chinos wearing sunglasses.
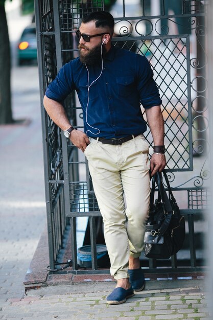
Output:
[[[107,302],[120,304],[145,286],[139,256],[149,211],[149,172],[162,171],[166,162],[161,100],[153,72],[145,57],[111,45],[113,27],[108,12],[83,17],[76,32],[80,57],[61,68],[43,103],[50,118],[88,159],[110,271],[117,280]],[[73,90],[83,109],[85,133],[70,124],[62,106]],[[146,110],[154,141],[150,163],[139,103]]]

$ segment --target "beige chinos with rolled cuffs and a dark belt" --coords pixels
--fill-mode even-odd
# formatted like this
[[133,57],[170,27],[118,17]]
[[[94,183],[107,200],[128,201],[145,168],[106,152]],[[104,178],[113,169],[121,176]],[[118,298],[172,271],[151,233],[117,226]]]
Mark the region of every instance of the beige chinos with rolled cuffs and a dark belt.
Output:
[[128,278],[129,255],[139,257],[143,250],[150,202],[148,152],[143,134],[122,145],[90,138],[85,150],[115,280]]

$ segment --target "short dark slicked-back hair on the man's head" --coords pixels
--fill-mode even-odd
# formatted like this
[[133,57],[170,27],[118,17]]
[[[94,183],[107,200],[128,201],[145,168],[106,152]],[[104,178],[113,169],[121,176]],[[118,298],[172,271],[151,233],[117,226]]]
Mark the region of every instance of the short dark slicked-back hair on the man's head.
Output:
[[86,24],[87,22],[90,22],[90,21],[96,21],[96,28],[109,27],[113,31],[114,18],[107,11],[91,12],[91,13],[83,16],[82,22],[84,24]]

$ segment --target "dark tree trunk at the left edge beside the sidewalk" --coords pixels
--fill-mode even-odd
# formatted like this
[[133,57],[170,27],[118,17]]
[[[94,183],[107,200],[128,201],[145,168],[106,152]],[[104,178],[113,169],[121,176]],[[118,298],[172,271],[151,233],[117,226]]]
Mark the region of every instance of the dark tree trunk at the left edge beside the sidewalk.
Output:
[[4,5],[0,5],[0,124],[13,122],[10,90],[10,41]]

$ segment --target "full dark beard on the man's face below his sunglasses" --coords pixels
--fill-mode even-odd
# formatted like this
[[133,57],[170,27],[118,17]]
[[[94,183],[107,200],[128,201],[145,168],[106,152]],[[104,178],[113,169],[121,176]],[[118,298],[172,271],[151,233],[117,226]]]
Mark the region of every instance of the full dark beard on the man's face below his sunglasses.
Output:
[[[80,60],[83,64],[92,65],[95,63],[99,63],[101,61],[101,45],[102,43],[98,44],[97,47],[88,50],[87,54],[82,54],[81,50],[79,50]],[[84,45],[79,44],[78,48],[80,49],[81,46],[84,48]],[[106,49],[102,46],[102,53],[105,54]]]

